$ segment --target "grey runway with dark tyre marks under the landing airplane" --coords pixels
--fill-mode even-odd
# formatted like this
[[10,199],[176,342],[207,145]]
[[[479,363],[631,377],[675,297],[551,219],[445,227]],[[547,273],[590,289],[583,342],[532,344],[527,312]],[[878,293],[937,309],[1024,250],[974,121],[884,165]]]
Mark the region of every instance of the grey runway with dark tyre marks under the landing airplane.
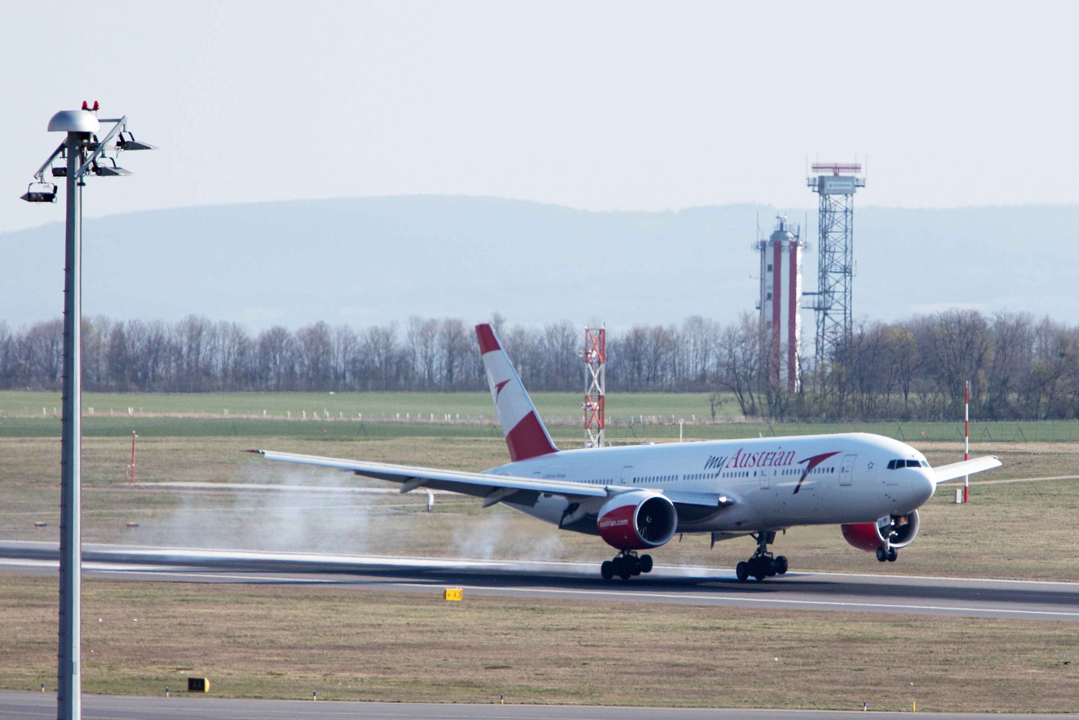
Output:
[[[0,542],[0,572],[51,574],[55,543]],[[546,597],[1079,622],[1079,583],[788,572],[739,583],[716,568],[656,566],[603,581],[595,563],[398,558],[84,545],[87,578],[195,583],[319,584],[356,590]]]

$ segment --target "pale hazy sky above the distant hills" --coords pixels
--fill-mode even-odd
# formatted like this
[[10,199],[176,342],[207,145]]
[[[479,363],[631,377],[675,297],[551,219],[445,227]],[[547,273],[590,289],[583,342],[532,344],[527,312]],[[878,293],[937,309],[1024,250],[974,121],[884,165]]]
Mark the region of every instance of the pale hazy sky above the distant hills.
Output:
[[589,209],[1077,201],[1079,3],[14,2],[0,5],[0,231],[99,100],[156,153],[87,215],[448,193]]

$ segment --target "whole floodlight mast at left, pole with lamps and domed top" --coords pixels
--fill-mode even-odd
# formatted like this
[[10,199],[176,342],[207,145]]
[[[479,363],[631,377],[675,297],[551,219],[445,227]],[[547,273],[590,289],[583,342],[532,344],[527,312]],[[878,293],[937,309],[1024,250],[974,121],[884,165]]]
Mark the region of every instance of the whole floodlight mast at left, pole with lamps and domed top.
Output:
[[[94,110],[96,109],[97,103],[94,104]],[[82,187],[85,185],[83,178],[87,171],[95,175],[106,174],[98,172],[97,159],[104,154],[109,140],[126,131],[127,118],[106,121],[114,122],[115,125],[101,141],[95,135],[100,126],[99,122],[85,103],[82,110],[62,110],[53,116],[49,121],[49,131],[66,132],[67,139],[35,174],[39,182],[44,182],[45,169],[62,153],[65,155],[67,208],[64,233],[60,583],[56,673],[58,720],[82,718]],[[153,147],[146,144],[137,146],[131,149]],[[59,175],[59,172],[54,172],[54,175]],[[29,202],[51,202],[35,199],[29,192],[24,199]]]

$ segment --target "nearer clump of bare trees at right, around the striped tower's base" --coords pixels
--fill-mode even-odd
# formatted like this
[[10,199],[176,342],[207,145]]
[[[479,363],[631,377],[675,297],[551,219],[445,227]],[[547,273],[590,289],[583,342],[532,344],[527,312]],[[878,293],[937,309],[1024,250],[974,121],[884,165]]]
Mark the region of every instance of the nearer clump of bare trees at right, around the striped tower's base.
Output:
[[784,419],[961,420],[1079,417],[1079,327],[1027,313],[948,310],[863,321],[791,391],[768,378],[768,329],[745,315],[720,342],[718,386],[743,413]]

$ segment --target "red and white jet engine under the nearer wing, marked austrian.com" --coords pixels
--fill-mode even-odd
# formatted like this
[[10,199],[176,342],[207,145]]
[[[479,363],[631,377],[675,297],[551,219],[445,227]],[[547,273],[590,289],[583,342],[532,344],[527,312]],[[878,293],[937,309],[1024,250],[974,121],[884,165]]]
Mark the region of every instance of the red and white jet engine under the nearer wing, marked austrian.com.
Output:
[[674,536],[678,511],[666,495],[631,490],[603,503],[597,525],[600,538],[620,551],[657,547]]

